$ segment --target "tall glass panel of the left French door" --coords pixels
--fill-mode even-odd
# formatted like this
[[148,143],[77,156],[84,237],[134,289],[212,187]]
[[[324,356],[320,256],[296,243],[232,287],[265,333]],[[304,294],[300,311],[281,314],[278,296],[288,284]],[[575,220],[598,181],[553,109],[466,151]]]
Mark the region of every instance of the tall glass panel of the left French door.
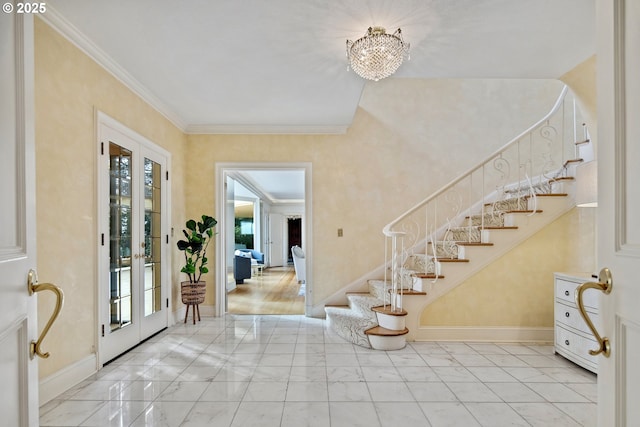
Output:
[[109,289],[110,329],[121,329],[132,320],[131,189],[132,155],[109,144]]

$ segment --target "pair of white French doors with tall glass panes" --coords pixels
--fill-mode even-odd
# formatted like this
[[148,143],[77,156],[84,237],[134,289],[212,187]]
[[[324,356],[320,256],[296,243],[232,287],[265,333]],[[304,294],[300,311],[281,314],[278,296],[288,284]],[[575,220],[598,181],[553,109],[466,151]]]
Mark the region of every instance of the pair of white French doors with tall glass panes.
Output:
[[167,327],[168,154],[99,115],[100,361]]

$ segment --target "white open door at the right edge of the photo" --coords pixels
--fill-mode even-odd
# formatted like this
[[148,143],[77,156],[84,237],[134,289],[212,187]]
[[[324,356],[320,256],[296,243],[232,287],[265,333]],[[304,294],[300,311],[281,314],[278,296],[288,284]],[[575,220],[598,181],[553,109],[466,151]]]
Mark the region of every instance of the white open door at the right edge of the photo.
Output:
[[[640,426],[640,2],[598,2],[598,262],[611,354],[598,366],[598,425]],[[591,292],[591,291],[590,291]]]

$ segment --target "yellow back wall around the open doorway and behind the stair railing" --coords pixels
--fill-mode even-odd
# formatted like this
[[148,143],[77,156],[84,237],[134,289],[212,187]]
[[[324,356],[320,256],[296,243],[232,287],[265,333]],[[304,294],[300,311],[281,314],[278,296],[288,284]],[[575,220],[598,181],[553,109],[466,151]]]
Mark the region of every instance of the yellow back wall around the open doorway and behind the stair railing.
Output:
[[[538,121],[561,88],[544,80],[387,80],[365,86],[345,135],[189,135],[197,155],[187,172],[188,215],[215,210],[216,162],[310,162],[318,303],[382,265],[386,223]],[[213,272],[206,280],[214,282]]]

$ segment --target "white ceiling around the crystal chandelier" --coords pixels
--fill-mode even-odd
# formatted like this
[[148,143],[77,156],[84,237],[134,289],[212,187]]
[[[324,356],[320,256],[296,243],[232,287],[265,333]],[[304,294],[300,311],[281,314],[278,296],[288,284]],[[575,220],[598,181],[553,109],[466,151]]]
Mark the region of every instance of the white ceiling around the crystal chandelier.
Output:
[[396,78],[558,78],[595,0],[50,0],[42,15],[187,133],[343,133],[367,82],[345,41],[402,28]]

